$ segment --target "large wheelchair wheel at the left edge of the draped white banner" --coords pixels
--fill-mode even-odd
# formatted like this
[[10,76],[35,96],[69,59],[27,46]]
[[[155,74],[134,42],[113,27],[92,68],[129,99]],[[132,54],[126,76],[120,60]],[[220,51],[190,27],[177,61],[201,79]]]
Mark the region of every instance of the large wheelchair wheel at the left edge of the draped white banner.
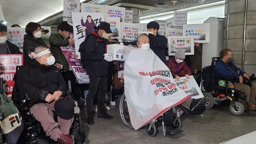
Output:
[[130,115],[129,115],[129,111],[128,111],[128,105],[127,102],[125,100],[125,95],[123,94],[120,100],[120,115],[122,118],[122,121],[124,122],[124,124],[129,127],[130,129],[134,129],[134,127],[132,127],[132,123],[130,120]]

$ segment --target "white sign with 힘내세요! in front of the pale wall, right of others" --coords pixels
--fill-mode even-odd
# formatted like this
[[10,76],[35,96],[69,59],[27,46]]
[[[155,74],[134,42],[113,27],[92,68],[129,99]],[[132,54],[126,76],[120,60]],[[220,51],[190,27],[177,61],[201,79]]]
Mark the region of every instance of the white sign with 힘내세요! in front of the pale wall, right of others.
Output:
[[184,24],[184,36],[194,36],[194,41],[200,43],[210,42],[210,24]]

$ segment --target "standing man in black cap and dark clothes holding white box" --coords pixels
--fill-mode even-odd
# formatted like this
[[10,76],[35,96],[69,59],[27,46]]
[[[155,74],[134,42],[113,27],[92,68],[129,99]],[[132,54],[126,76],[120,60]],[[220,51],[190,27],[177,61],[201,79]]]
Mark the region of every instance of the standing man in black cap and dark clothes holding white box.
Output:
[[98,118],[111,119],[113,116],[105,111],[105,94],[107,87],[107,76],[109,69],[109,62],[112,61],[107,52],[107,44],[109,35],[112,33],[110,24],[108,22],[100,22],[98,26],[94,27],[88,35],[88,40],[85,44],[85,55],[88,60],[87,74],[90,78],[89,92],[87,94],[87,124],[94,124],[93,120],[93,98],[98,91]]

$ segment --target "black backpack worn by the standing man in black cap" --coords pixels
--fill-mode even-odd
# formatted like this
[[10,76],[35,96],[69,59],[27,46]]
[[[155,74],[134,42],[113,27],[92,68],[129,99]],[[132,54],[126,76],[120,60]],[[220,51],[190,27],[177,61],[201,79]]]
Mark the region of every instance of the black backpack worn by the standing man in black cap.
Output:
[[[80,52],[81,55],[81,63],[82,63],[82,68],[83,69],[87,69],[89,60],[86,58],[86,51],[85,51],[85,44],[87,42],[87,40],[89,39],[89,37],[94,36],[94,34],[89,34],[86,39],[80,44],[78,52]],[[98,47],[98,42],[97,42],[97,37],[95,37],[95,41],[96,41],[96,48]]]

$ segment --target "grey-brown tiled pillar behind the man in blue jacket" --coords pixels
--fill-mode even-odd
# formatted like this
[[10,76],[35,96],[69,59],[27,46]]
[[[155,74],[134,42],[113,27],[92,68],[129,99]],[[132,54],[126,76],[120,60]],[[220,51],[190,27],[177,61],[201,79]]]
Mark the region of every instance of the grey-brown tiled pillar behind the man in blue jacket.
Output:
[[249,76],[256,74],[256,0],[226,0],[224,14],[223,48],[232,51],[234,63]]

